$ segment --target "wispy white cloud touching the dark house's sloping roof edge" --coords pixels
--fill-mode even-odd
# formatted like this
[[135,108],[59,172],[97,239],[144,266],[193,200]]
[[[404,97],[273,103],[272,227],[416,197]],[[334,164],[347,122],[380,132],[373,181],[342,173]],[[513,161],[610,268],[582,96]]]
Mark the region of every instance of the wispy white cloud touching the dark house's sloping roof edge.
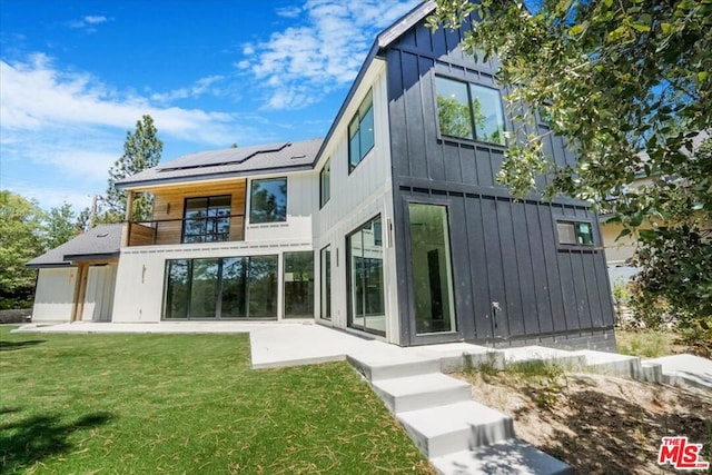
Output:
[[299,9],[279,9],[277,14],[281,17],[304,17],[303,24],[244,44],[247,58],[236,66],[263,85],[266,108],[306,107],[318,101],[320,95],[350,82],[375,36],[417,3],[307,0]]

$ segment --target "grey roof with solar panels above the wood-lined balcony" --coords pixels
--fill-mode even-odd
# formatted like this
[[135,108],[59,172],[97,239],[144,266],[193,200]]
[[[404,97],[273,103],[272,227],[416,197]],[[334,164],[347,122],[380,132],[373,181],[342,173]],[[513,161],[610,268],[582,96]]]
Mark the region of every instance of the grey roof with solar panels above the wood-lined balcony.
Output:
[[179,157],[117,182],[118,188],[237,177],[255,172],[310,170],[322,139],[201,151]]

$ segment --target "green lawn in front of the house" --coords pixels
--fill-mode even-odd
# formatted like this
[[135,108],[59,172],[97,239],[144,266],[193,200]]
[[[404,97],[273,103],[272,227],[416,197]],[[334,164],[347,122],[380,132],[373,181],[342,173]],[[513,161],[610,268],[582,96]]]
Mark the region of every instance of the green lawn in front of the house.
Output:
[[0,473],[433,473],[345,363],[253,370],[247,335],[12,335]]

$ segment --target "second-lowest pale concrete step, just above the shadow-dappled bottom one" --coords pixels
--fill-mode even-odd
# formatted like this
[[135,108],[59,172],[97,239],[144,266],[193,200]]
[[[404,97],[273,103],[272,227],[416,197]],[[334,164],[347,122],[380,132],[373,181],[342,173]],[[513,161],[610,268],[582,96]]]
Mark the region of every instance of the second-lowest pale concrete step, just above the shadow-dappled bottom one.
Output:
[[473,400],[396,415],[426,457],[442,457],[514,437],[512,417]]

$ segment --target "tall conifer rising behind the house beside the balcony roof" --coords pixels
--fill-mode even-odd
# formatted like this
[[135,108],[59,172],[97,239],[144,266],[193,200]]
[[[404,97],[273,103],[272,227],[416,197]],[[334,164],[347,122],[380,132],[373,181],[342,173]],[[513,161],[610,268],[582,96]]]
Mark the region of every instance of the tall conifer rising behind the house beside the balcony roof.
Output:
[[[123,155],[109,169],[109,186],[102,198],[103,214],[100,222],[120,222],[126,217],[126,191],[116,188],[116,184],[126,177],[156,167],[160,161],[164,142],[157,137],[151,116],[144,116],[136,122],[136,131],[126,132]],[[149,219],[152,211],[154,197],[137,194],[134,198],[134,220]]]

